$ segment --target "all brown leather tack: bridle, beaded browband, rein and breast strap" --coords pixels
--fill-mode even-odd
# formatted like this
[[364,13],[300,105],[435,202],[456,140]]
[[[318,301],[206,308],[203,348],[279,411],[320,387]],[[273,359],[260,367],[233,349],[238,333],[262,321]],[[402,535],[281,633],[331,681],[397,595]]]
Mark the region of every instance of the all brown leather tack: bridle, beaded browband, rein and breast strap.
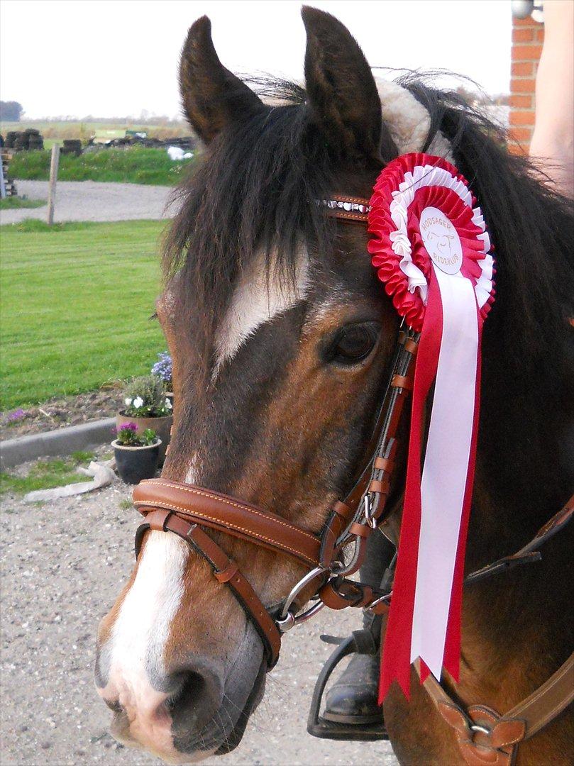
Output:
[[[328,214],[342,221],[368,220],[369,201],[362,198],[337,195],[330,200],[317,201],[317,205],[325,207]],[[352,489],[343,500],[337,500],[330,508],[319,534],[302,529],[277,514],[235,497],[191,484],[159,478],[143,481],[133,490],[133,504],[145,518],[136,531],[136,557],[139,555],[143,537],[149,529],[172,532],[189,543],[195,552],[207,561],[213,576],[231,589],[251,620],[264,646],[267,669],[271,669],[277,663],[281,634],[294,625],[309,620],[323,607],[362,607],[372,614],[385,614],[389,608],[392,596],[392,569],[387,578],[389,587],[382,590],[350,580],[349,576],[354,575],[362,565],[369,535],[377,529],[382,531],[392,511],[392,508],[387,509],[387,501],[395,468],[396,434],[405,401],[412,391],[418,340],[418,333],[405,328],[404,324],[401,326],[390,372],[379,398],[372,437],[366,448],[366,459],[357,472]],[[507,571],[518,564],[540,560],[540,545],[563,529],[573,513],[574,496],[520,551],[467,575],[465,583]],[[281,604],[266,607],[235,561],[205,532],[205,528],[224,532],[226,535],[295,558],[309,571]],[[385,534],[389,536],[388,532]],[[311,586],[314,593],[311,597],[313,603],[306,611],[300,612],[297,598],[302,591]],[[555,676],[561,679],[558,682],[561,695],[558,701],[556,683],[549,683]],[[544,719],[543,725],[546,725],[574,699],[574,653],[549,682],[531,695],[536,696],[534,708],[537,717],[527,725],[524,723],[516,741],[539,731],[542,728],[539,719]],[[549,691],[545,690],[547,685]],[[496,732],[500,733],[497,726],[502,721],[497,713],[480,706],[482,711],[488,710],[491,717],[494,715],[494,719],[485,719],[484,713],[481,713],[478,719],[482,723],[477,724],[471,709],[461,709],[435,679],[430,677],[424,686],[444,719],[457,732],[459,745],[468,740],[471,742],[470,750],[473,751],[473,748],[476,749],[474,739],[478,737],[482,740],[488,739],[490,743],[494,742],[497,752],[503,747],[497,735],[495,736]],[[528,699],[530,700],[530,697]],[[548,709],[551,709],[552,715],[548,715]],[[515,710],[503,718],[506,720]],[[521,715],[523,719],[526,717],[523,711]],[[512,720],[516,717],[513,715]],[[484,720],[487,720],[487,723],[482,725]],[[516,731],[513,729],[514,735],[517,732],[517,728]],[[513,748],[515,744],[516,742],[512,745],[507,743],[504,746]],[[463,747],[461,751],[467,759]],[[468,760],[467,762],[474,763]],[[502,763],[503,761],[500,761],[500,764]]]

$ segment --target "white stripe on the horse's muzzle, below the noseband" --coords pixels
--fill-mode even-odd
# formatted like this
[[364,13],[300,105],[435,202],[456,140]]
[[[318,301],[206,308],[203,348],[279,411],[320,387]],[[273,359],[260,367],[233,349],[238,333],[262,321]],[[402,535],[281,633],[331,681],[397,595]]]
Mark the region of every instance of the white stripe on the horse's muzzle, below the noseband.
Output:
[[[158,727],[169,732],[169,716],[159,705],[167,695],[154,688],[166,680],[164,651],[183,594],[183,573],[189,550],[165,532],[149,532],[136,579],[120,607],[108,642],[110,675],[100,691],[126,709],[130,730],[139,738]],[[163,731],[166,735],[166,732]]]

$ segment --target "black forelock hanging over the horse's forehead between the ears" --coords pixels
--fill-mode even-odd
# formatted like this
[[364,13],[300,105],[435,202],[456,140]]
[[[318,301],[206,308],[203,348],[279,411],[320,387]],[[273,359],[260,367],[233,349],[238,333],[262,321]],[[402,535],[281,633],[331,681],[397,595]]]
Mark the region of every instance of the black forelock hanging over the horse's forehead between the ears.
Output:
[[[304,91],[277,83],[268,106],[248,121],[221,133],[176,191],[181,207],[163,255],[169,279],[182,269],[189,290],[179,295],[202,352],[212,349],[241,270],[261,254],[285,283],[294,280],[297,245],[326,247],[331,222],[311,201],[331,188],[326,146],[310,125]],[[273,254],[273,258],[271,258]]]

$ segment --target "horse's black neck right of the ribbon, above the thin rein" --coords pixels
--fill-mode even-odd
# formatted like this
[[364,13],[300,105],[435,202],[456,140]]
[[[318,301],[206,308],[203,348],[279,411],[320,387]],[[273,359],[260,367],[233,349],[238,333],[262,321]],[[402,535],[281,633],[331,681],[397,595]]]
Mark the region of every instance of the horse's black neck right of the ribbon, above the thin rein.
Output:
[[566,345],[554,349],[556,363],[517,359],[496,336],[484,342],[471,558],[525,544],[574,488],[574,369]]

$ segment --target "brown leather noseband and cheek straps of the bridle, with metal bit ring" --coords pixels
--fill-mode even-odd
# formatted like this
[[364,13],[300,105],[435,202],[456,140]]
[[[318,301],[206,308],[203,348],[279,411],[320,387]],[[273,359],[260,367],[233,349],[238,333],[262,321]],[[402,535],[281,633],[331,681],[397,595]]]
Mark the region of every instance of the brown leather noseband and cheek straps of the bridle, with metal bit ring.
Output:
[[[348,578],[362,565],[367,538],[385,514],[395,466],[396,432],[412,389],[417,348],[418,333],[401,329],[391,373],[380,398],[368,457],[360,467],[353,488],[330,508],[320,534],[204,487],[161,478],[143,481],[133,490],[134,506],[145,516],[145,522],[136,532],[136,556],[148,529],[172,532],[188,542],[211,566],[214,577],[231,589],[254,624],[264,644],[268,669],[277,663],[281,633],[308,620],[324,606],[332,609],[369,607],[384,595]],[[268,608],[235,561],[204,527],[295,558],[309,572],[282,604]],[[310,584],[316,586],[315,603],[303,614],[297,614],[297,596]]]

